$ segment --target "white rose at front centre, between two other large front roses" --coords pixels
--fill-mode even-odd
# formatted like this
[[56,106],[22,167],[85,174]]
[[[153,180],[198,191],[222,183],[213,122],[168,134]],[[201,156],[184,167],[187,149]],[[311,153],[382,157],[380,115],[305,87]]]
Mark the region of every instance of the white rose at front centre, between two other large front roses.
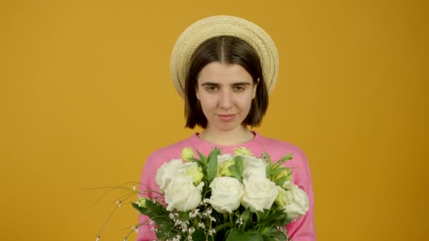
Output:
[[243,184],[236,178],[219,177],[210,183],[212,196],[204,202],[211,204],[213,209],[220,214],[232,213],[240,206],[241,197],[244,194]]

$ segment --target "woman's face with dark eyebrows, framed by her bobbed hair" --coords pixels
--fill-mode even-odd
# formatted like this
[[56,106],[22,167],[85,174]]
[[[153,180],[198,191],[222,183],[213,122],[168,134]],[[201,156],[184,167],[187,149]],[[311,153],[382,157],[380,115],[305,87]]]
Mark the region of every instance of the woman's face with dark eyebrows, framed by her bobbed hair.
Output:
[[212,62],[198,75],[195,89],[210,130],[241,128],[248,115],[256,86],[252,76],[238,64]]

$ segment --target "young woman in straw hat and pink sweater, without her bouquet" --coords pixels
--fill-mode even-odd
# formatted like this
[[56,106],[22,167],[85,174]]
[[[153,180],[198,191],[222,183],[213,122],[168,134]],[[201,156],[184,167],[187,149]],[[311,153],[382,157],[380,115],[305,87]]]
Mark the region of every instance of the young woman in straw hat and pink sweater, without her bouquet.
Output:
[[[222,148],[223,154],[246,147],[255,156],[267,152],[273,160],[292,152],[294,159],[286,164],[294,168],[292,178],[308,195],[310,209],[286,228],[294,241],[316,240],[306,156],[293,144],[248,129],[262,122],[277,73],[277,49],[257,25],[241,18],[214,16],[188,27],[171,55],[171,75],[185,99],[186,127],[199,125],[203,131],[153,152],[143,168],[140,190],[159,190],[157,169],[166,161],[178,159],[184,147],[205,155],[213,147]],[[140,222],[145,218],[140,216]],[[149,225],[140,226],[138,241],[155,239]]]

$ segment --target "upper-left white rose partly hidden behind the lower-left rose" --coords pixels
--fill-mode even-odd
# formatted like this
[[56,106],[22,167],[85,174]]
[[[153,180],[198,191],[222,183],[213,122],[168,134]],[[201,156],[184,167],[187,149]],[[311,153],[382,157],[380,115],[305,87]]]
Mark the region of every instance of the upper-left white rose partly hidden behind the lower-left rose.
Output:
[[181,176],[186,171],[189,165],[192,163],[183,163],[181,159],[173,159],[167,163],[162,164],[157,170],[157,177],[155,180],[159,185],[159,190],[164,192],[165,187],[171,180],[174,180],[176,176]]

